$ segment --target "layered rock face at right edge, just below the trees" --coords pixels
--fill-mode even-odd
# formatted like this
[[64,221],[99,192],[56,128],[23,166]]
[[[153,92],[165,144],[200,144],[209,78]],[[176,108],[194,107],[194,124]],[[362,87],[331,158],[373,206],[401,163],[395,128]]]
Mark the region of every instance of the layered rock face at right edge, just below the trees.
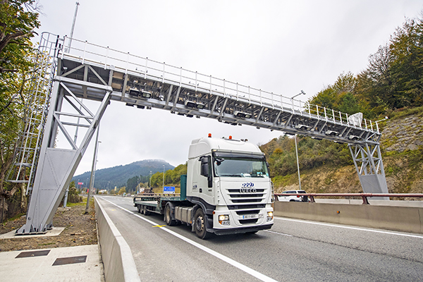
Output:
[[407,116],[387,121],[381,137],[385,152],[417,150],[423,146],[423,116]]

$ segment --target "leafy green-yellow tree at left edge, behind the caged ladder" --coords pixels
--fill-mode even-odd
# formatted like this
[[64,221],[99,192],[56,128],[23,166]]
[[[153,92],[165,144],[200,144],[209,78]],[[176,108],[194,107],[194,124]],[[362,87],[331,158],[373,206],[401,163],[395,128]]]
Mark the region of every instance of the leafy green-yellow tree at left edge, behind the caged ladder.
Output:
[[[30,38],[39,27],[39,6],[34,0],[0,0],[0,218],[8,210],[6,200],[20,191],[20,209],[26,208],[21,183],[5,183],[13,164],[18,133],[23,130],[28,81],[35,53]],[[25,174],[19,176],[25,180]]]

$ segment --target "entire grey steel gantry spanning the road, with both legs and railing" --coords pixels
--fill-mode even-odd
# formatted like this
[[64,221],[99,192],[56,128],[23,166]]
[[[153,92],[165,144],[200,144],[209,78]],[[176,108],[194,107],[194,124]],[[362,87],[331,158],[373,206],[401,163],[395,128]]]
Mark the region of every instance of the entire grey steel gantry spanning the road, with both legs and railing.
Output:
[[[49,225],[109,101],[124,102],[139,109],[164,109],[188,118],[214,118],[230,125],[252,125],[291,135],[347,143],[364,192],[388,192],[380,157],[378,124],[363,119],[360,114],[348,116],[298,99],[74,38],[72,47],[65,49],[63,47],[68,40],[64,37],[59,44],[57,40],[55,42],[59,46],[54,53],[57,70],[47,130],[42,141],[27,223],[20,233],[43,231]],[[97,114],[91,114],[78,102],[79,99],[102,102]],[[72,104],[76,114],[63,113],[63,102]],[[86,123],[61,121],[64,116],[78,117]],[[81,145],[76,145],[71,135],[66,133],[69,125],[88,128]],[[63,132],[71,150],[54,148],[56,130]],[[39,210],[40,204],[45,206],[43,211]],[[37,222],[28,222],[33,216],[39,217]]]

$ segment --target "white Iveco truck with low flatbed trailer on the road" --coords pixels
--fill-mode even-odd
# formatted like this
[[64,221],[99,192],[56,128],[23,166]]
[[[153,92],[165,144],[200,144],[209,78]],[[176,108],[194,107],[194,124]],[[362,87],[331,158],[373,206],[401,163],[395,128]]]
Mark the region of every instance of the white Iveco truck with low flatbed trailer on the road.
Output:
[[259,147],[247,140],[210,134],[192,140],[179,195],[137,195],[133,199],[141,214],[162,214],[168,226],[191,226],[201,239],[213,233],[257,233],[271,228],[273,202],[269,164]]

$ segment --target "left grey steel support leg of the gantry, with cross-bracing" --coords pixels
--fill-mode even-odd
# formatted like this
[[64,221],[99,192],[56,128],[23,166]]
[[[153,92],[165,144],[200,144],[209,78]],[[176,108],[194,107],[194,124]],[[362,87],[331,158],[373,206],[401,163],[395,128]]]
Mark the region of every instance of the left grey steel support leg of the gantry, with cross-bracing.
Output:
[[[37,173],[35,174],[34,188],[32,189],[30,203],[27,209],[27,221],[24,226],[16,231],[17,235],[45,233],[47,229],[52,227],[51,222],[54,213],[59,207],[66,188],[71,183],[71,178],[76,168],[78,168],[78,164],[111,99],[111,87],[98,85],[98,88],[104,90],[105,94],[97,109],[97,113],[92,114],[75,97],[75,94],[63,82],[60,82],[60,77],[56,78],[39,154]],[[63,99],[66,99],[78,114],[62,112]],[[75,144],[65,125],[80,126],[80,124],[62,122],[61,116],[79,117],[87,121],[88,125],[85,125],[87,127],[87,133],[79,146]],[[72,149],[54,147],[57,130],[61,130],[61,133],[65,135]]]

